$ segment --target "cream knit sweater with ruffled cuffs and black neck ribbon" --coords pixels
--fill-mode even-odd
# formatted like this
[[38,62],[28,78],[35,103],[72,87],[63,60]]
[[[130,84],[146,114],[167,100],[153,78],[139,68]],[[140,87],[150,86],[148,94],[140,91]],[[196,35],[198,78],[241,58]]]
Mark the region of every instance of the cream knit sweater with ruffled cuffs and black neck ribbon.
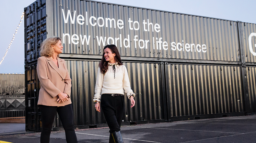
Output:
[[[113,65],[115,65],[116,68],[115,75]],[[135,96],[135,93],[131,90],[128,72],[124,65],[120,66],[117,63],[108,63],[108,70],[105,75],[103,75],[101,69],[98,68],[95,95],[93,99],[94,102],[100,102],[102,94],[124,95],[124,90],[128,98],[130,95]]]

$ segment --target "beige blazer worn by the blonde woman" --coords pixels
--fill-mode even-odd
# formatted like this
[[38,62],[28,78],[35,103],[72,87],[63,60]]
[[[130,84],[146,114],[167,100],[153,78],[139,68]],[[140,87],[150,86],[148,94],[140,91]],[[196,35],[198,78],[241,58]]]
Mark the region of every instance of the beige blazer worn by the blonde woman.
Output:
[[[58,65],[55,65],[51,57],[39,57],[37,60],[37,75],[40,81],[38,105],[65,106],[71,104],[71,78],[68,73],[65,60],[57,58]],[[69,100],[58,103],[58,94],[67,93]]]

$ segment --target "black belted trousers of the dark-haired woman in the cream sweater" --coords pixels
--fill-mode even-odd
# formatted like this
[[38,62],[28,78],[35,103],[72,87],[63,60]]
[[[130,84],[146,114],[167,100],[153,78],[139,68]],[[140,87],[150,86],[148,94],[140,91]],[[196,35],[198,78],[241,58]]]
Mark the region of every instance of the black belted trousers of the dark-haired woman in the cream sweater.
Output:
[[120,131],[125,110],[124,103],[124,96],[111,96],[106,94],[101,96],[101,109],[104,113],[110,133]]

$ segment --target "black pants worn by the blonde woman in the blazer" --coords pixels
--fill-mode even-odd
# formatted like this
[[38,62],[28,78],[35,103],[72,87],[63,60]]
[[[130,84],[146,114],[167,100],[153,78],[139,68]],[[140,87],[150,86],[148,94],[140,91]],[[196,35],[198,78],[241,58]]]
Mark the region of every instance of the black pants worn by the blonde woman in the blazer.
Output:
[[40,137],[41,143],[49,143],[51,128],[56,114],[60,117],[63,128],[65,129],[67,143],[77,143],[77,135],[75,134],[73,120],[73,110],[71,104],[66,106],[45,106],[39,105],[42,115],[42,132]]

